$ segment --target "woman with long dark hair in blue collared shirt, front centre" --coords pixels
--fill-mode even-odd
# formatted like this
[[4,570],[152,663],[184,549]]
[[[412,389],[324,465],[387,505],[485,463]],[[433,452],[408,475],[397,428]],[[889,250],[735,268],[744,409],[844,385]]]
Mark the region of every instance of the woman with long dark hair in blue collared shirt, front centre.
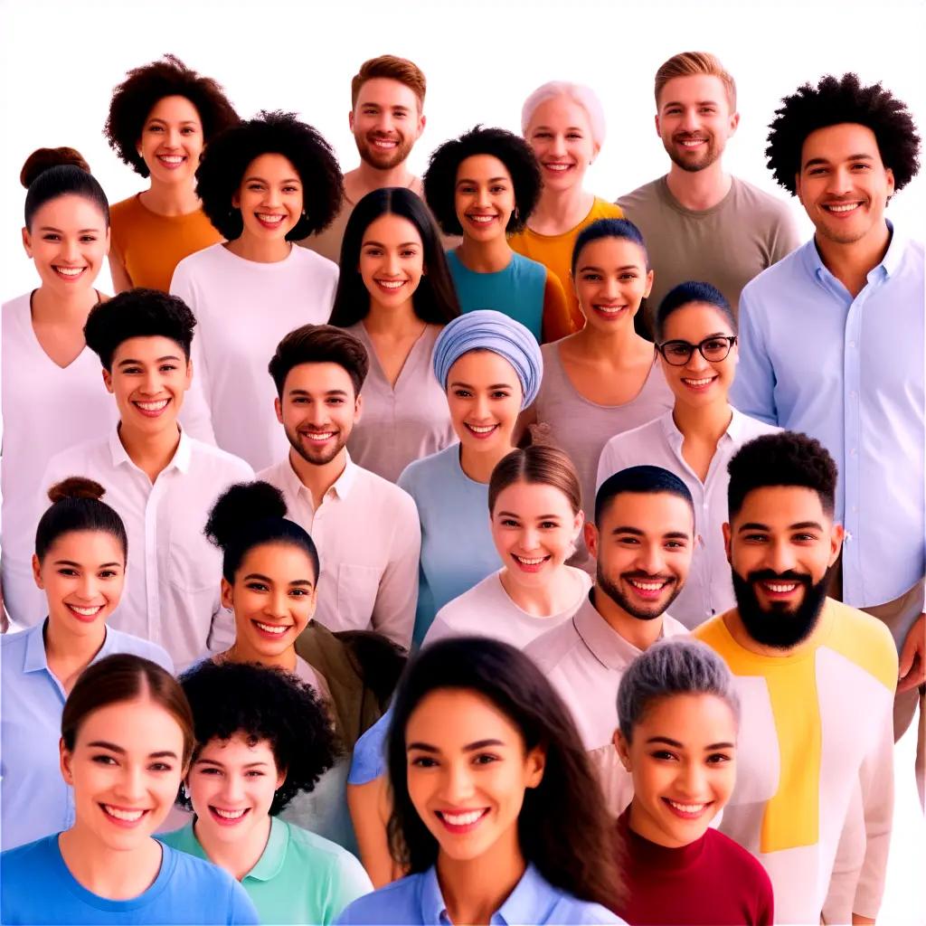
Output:
[[530,659],[476,637],[409,665],[388,743],[389,832],[409,874],[339,922],[619,923],[603,797]]

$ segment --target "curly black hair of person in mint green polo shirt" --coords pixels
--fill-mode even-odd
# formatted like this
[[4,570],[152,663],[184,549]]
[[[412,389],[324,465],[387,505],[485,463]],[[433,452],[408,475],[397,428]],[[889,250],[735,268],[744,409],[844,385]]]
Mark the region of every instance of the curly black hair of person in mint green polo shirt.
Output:
[[[277,770],[285,771],[273,802],[275,817],[300,791],[311,791],[331,769],[340,747],[325,707],[311,685],[282,669],[206,659],[180,679],[193,709],[193,761],[212,740],[243,735],[249,745],[266,740]],[[190,809],[189,797],[177,803]]]

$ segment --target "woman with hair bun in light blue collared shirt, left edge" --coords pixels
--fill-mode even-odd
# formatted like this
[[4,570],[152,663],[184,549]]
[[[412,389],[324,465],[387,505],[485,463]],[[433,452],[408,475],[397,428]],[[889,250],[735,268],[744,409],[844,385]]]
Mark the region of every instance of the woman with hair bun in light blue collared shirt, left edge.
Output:
[[4,849],[63,830],[74,819],[57,742],[61,709],[81,672],[112,653],[134,653],[173,669],[160,646],[106,627],[122,594],[128,543],[122,519],[103,494],[98,483],[76,477],[49,489],[52,505],[39,520],[32,555],[46,617],[0,637]]

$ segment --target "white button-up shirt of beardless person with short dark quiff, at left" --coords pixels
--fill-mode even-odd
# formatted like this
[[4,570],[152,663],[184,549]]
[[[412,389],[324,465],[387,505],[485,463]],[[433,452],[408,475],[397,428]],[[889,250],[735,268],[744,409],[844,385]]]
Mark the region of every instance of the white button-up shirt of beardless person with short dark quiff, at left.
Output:
[[[219,604],[222,557],[203,529],[219,495],[254,478],[243,459],[181,432],[177,452],[154,483],[131,461],[119,432],[53,457],[42,486],[84,476],[106,489],[129,538],[126,586],[109,625],[163,646],[178,670],[234,640]],[[48,507],[40,499],[36,520]]]

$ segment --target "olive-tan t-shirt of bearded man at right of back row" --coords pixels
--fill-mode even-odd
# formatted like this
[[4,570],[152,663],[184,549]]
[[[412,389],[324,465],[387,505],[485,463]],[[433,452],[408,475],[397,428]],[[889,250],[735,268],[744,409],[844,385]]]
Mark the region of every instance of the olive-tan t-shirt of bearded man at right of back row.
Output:
[[621,196],[618,205],[643,232],[656,271],[646,300],[651,322],[669,290],[688,280],[716,286],[736,313],[745,284],[800,244],[787,204],[736,177],[709,209],[686,209],[665,177]]

